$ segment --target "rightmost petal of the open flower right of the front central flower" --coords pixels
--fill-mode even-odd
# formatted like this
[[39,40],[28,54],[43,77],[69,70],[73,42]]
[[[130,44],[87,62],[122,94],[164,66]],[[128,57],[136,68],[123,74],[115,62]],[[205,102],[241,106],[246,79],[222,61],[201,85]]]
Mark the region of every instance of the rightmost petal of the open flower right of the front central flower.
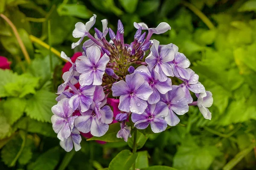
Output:
[[183,115],[189,111],[189,105],[185,98],[172,102],[171,108],[178,115]]

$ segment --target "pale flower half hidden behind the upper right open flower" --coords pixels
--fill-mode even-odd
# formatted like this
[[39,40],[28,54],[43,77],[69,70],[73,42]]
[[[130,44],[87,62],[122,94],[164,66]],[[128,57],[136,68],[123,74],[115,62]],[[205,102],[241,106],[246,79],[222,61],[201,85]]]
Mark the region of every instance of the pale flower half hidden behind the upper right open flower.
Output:
[[189,74],[186,68],[189,67],[190,61],[186,58],[186,56],[183,53],[177,52],[178,47],[174,44],[171,44],[174,49],[174,60],[170,62],[172,65],[173,73],[175,77],[181,77],[183,79],[188,79]]

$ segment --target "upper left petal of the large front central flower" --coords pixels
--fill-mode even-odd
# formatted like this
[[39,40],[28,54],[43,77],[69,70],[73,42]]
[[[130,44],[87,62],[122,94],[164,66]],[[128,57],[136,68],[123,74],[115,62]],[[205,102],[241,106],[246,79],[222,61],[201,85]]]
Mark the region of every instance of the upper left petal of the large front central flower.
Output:
[[123,80],[113,83],[111,89],[113,91],[113,94],[112,94],[113,96],[122,96],[125,94],[130,94],[130,88],[128,87],[126,82]]

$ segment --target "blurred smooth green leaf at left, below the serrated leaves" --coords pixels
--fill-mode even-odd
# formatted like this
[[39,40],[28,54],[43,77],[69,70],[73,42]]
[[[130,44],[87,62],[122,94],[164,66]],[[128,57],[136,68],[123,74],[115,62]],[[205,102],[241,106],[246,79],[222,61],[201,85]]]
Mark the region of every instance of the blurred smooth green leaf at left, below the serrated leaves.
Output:
[[10,125],[16,122],[23,115],[26,107],[26,100],[9,97],[3,103],[3,113]]

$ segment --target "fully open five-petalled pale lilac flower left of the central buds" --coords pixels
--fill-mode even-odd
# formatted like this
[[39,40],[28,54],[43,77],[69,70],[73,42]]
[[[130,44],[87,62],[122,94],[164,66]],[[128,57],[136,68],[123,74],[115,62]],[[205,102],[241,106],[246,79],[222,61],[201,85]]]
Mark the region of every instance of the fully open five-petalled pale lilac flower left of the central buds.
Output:
[[81,75],[79,77],[80,85],[101,85],[102,77],[105,73],[109,57],[104,54],[100,58],[100,50],[96,46],[91,46],[86,50],[86,56],[80,56],[76,60],[76,70]]

